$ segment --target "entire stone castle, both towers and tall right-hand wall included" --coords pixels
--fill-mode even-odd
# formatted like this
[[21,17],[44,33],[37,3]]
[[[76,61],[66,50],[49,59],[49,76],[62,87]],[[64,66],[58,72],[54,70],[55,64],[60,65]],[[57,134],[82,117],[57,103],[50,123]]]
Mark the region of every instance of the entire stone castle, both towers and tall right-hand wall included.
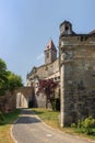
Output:
[[[52,41],[45,48],[45,64],[27,75],[27,86],[38,79],[60,81],[61,127],[88,116],[95,118],[95,31],[76,34],[72,24],[60,24],[59,56]],[[43,100],[44,98],[39,99]],[[39,105],[39,107],[43,107]]]

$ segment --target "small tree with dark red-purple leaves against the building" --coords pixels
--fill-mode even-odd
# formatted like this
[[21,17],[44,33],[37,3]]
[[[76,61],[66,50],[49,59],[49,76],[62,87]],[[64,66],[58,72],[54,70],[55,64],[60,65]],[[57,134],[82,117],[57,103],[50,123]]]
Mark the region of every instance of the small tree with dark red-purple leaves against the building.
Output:
[[39,92],[44,92],[46,95],[46,108],[48,107],[48,102],[51,103],[51,107],[54,106],[55,88],[58,84],[58,81],[54,81],[52,79],[39,79],[37,95],[39,95]]

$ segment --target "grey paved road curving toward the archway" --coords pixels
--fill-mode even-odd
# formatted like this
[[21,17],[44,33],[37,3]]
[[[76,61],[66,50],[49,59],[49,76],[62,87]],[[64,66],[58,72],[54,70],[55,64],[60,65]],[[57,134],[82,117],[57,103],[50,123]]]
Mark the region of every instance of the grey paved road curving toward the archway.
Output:
[[29,109],[23,109],[12,128],[15,143],[92,143],[45,125]]

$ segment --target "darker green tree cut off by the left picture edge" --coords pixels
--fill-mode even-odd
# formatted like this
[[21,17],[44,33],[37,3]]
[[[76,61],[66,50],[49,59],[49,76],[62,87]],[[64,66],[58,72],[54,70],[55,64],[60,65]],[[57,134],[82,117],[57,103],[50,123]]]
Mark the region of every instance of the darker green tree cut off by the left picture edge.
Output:
[[8,89],[7,64],[0,58],[0,95],[3,96]]

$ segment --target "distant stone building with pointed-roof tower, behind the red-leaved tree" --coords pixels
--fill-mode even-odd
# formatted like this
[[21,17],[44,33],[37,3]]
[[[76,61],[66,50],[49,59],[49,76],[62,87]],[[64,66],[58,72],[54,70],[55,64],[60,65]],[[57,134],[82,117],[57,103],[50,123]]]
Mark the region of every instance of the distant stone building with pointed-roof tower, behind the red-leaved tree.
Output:
[[[59,74],[59,58],[57,58],[57,48],[50,40],[45,47],[45,64],[39,67],[33,67],[31,73],[27,74],[27,86],[34,87],[34,98],[33,107],[45,108],[46,107],[46,96],[41,92],[37,96],[38,81],[39,79],[52,79],[54,81],[60,80]],[[59,96],[59,88],[56,89],[55,96]]]

